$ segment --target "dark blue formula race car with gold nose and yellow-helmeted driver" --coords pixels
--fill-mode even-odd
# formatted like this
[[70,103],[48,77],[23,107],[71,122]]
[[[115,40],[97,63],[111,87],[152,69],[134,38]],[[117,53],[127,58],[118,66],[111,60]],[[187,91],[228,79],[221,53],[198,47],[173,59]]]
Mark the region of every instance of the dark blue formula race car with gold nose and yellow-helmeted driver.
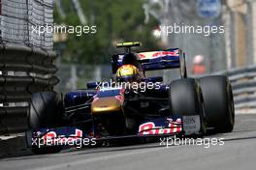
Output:
[[[112,56],[109,82],[87,83],[86,90],[74,90],[64,99],[53,92],[32,95],[26,134],[35,154],[58,152],[81,139],[87,139],[83,145],[100,145],[119,138],[233,130],[233,93],[226,76],[188,78],[181,49],[132,52],[140,45],[117,44],[127,50]],[[164,84],[162,76],[145,76],[167,69],[179,69],[180,78]]]

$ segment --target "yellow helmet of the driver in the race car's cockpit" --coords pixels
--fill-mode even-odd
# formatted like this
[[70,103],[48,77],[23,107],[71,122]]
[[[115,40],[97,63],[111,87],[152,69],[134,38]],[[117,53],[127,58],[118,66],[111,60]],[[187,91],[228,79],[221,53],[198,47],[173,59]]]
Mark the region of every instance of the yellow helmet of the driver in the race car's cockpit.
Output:
[[116,71],[118,82],[138,82],[140,79],[140,71],[133,65],[123,65]]

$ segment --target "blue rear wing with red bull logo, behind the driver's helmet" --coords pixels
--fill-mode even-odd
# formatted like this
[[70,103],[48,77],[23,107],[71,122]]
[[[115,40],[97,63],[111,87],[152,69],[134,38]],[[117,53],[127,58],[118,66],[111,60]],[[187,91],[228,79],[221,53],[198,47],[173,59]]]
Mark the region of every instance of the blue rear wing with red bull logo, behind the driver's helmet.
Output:
[[[185,53],[179,48],[140,52],[138,55],[144,71],[179,69],[180,76],[186,77]],[[123,56],[124,54],[112,56],[112,73],[116,73],[117,69],[122,66]]]

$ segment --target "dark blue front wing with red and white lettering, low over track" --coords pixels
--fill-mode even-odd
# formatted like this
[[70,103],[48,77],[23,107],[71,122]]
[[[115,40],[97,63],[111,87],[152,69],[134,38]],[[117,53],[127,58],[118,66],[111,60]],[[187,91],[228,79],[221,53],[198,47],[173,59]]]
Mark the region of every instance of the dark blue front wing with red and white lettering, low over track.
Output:
[[28,147],[48,146],[88,146],[98,141],[110,141],[116,139],[135,137],[162,137],[162,136],[186,136],[201,134],[201,119],[199,115],[182,117],[163,117],[144,121],[138,129],[138,133],[132,135],[109,136],[96,135],[83,131],[76,127],[38,128],[26,132]]

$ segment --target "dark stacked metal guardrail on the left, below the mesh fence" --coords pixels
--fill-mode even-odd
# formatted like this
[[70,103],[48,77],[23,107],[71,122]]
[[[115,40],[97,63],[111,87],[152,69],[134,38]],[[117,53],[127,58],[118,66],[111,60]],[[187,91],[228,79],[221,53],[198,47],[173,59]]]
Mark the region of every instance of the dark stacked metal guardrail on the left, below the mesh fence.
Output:
[[23,45],[0,45],[0,134],[27,129],[30,96],[53,91],[58,78],[54,52]]

